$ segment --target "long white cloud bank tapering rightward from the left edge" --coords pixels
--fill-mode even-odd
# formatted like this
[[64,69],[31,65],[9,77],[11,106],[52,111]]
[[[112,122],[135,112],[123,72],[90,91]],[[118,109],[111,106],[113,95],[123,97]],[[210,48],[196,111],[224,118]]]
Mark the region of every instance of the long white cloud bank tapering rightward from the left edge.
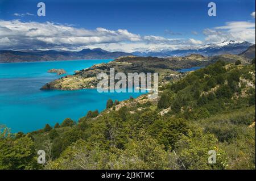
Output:
[[198,45],[195,39],[167,39],[162,36],[141,36],[127,30],[96,28],[86,30],[51,22],[0,20],[0,49],[65,49],[80,50],[105,47],[106,50],[154,49]]

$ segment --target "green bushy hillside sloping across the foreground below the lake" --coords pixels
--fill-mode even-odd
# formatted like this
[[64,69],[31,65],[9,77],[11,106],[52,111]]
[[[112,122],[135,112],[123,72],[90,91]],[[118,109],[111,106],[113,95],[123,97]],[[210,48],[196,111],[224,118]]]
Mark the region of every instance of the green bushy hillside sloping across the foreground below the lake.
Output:
[[3,127],[0,169],[255,169],[255,59],[217,61],[161,85],[158,99],[108,100],[77,122]]

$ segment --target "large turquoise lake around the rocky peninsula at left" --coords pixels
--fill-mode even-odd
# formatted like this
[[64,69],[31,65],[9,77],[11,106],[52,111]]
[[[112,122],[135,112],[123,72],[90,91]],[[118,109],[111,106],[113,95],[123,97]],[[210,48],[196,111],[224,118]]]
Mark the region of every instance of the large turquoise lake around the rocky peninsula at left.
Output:
[[[45,124],[78,120],[89,110],[105,109],[108,99],[125,100],[142,93],[98,93],[96,89],[59,91],[40,90],[47,82],[61,77],[49,69],[65,69],[67,74],[111,60],[73,60],[0,64],[0,125],[12,132],[31,132]],[[63,76],[63,75],[62,75]]]

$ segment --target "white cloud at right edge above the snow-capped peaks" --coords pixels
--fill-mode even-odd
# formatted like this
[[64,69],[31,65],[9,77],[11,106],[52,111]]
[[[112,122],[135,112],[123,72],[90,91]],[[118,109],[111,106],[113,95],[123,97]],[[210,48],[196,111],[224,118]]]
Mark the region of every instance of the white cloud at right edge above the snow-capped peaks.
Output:
[[205,41],[218,43],[225,40],[249,41],[255,43],[255,23],[227,22],[224,26],[207,28],[203,31]]

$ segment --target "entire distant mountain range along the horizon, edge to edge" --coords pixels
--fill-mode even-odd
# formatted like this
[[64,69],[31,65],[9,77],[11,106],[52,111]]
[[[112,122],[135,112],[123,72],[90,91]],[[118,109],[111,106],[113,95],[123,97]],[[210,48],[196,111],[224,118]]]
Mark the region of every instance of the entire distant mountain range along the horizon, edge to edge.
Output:
[[[190,54],[201,54],[203,56],[217,56],[220,54],[241,54],[255,57],[252,50],[247,50],[253,44],[247,41],[223,41],[219,44],[206,44],[197,49],[177,50],[148,50],[146,52],[108,52],[101,48],[82,49],[80,52],[57,51],[57,50],[0,50],[0,62],[32,62],[52,60],[90,60],[90,59],[115,59],[123,56],[141,57],[180,57]],[[252,49],[255,49],[252,47]],[[246,52],[247,51],[247,52]],[[255,52],[255,51],[254,51]]]

